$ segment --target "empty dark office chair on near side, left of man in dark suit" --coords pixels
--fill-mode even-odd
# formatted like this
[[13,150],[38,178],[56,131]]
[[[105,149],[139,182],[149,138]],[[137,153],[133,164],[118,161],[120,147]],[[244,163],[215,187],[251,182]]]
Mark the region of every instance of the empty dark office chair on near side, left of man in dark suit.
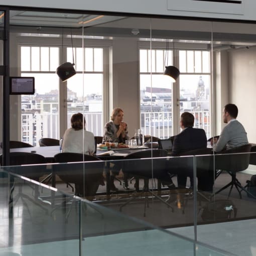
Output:
[[[136,191],[139,192],[139,179],[144,179],[144,192],[145,192],[145,204],[144,204],[144,217],[146,216],[146,206],[148,204],[148,193],[152,194],[153,197],[159,199],[161,202],[165,203],[174,210],[173,207],[163,200],[160,196],[156,195],[152,190],[149,189],[149,179],[159,178],[159,173],[165,170],[166,159],[154,159],[163,158],[167,156],[167,151],[165,150],[145,150],[135,153],[131,153],[124,157],[123,159],[123,173],[127,173],[136,177]],[[147,158],[147,159],[146,159]],[[151,161],[152,160],[152,161]],[[153,172],[152,172],[153,171]],[[152,176],[153,174],[153,176]],[[132,200],[138,197],[139,194],[135,194],[127,202],[119,207],[121,211],[122,208],[129,204]]]

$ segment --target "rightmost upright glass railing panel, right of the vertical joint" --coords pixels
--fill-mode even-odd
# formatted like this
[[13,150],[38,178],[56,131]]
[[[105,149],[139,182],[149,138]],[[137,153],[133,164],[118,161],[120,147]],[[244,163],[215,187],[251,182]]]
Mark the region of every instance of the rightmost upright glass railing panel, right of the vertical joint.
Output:
[[[246,148],[246,145],[242,147]],[[199,190],[198,187],[195,205],[197,241],[218,246],[236,255],[254,254],[251,228],[255,221],[256,197],[255,186],[250,182],[255,173],[254,158],[254,153],[195,158],[198,182],[208,183],[209,188],[214,184],[212,192]],[[243,242],[240,240],[242,236]]]

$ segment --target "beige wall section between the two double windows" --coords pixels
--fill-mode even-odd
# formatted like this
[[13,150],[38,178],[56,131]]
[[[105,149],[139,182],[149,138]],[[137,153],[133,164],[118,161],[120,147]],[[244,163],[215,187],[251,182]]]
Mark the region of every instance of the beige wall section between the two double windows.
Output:
[[[113,107],[124,111],[129,136],[140,127],[139,51],[137,39],[114,38]],[[111,111],[111,109],[110,109]]]

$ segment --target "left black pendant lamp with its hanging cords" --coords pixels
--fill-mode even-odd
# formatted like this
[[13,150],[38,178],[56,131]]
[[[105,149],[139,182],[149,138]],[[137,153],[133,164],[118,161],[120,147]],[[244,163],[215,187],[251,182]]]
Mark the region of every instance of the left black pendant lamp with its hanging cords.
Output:
[[[65,82],[70,78],[71,76],[76,74],[76,71],[74,69],[74,51],[73,51],[73,40],[72,40],[72,30],[71,30],[71,43],[72,43],[72,54],[73,54],[73,63],[65,62],[61,64],[56,69],[56,73],[61,79],[62,82]],[[62,62],[62,55],[63,55],[63,30],[62,30],[62,47],[61,47],[61,62]]]

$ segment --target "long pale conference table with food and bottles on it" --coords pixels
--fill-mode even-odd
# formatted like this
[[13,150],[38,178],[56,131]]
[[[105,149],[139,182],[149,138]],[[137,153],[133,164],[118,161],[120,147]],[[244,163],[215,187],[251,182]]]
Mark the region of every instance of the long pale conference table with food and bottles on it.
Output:
[[[106,174],[106,194],[110,194],[110,188],[109,188],[109,181],[110,181],[110,161],[115,161],[115,160],[121,160],[125,156],[142,151],[142,150],[147,150],[149,149],[148,147],[135,147],[135,148],[127,148],[127,149],[110,149],[111,151],[114,151],[114,154],[112,155],[104,155],[108,152],[108,150],[101,150],[100,148],[97,148],[96,151],[96,157],[99,158],[102,161],[106,161],[105,164],[105,174]],[[46,146],[46,147],[29,147],[29,148],[15,148],[15,149],[10,149],[10,152],[26,152],[26,153],[35,153],[42,155],[46,158],[47,163],[54,163],[54,156],[58,153],[60,153],[60,147],[59,146]],[[104,153],[102,155],[102,153]],[[0,149],[0,154],[2,154],[2,149]],[[55,175],[52,173],[51,174],[51,186],[55,187],[56,186],[56,179]]]

